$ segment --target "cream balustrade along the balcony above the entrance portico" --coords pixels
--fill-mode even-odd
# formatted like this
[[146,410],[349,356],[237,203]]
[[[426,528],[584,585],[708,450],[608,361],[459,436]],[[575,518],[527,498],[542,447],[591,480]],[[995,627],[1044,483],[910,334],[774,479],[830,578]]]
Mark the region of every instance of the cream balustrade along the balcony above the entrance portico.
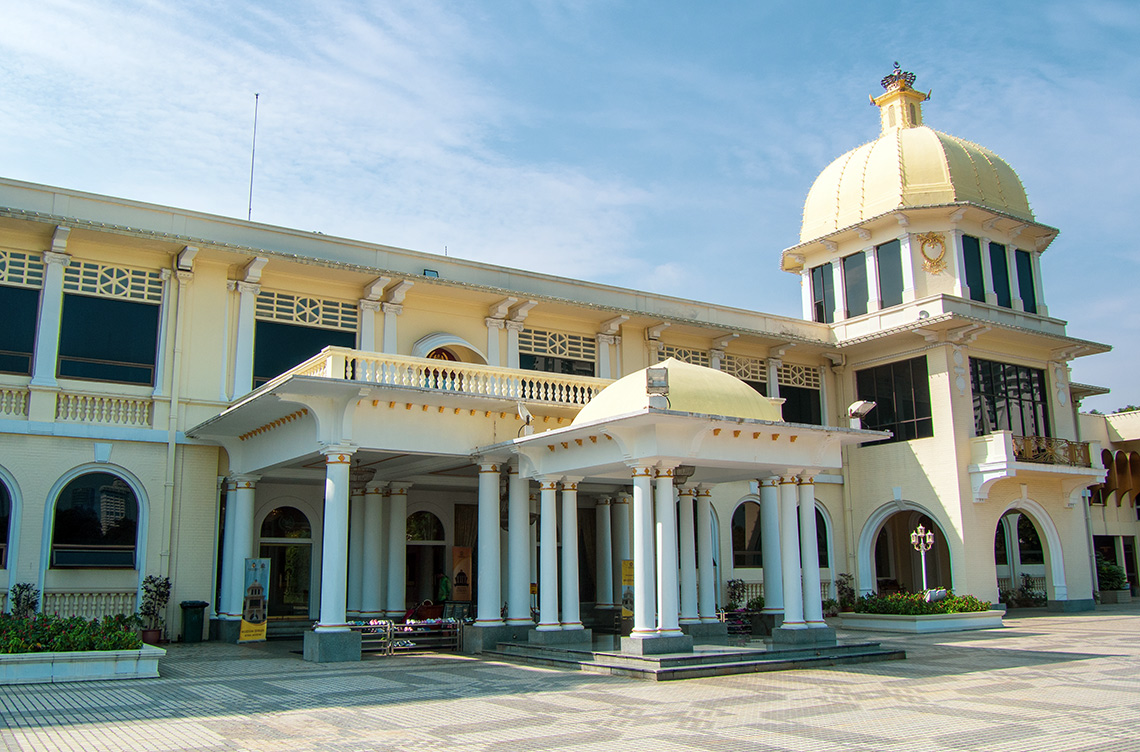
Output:
[[345,348],[325,348],[270,384],[287,376],[323,376],[378,386],[478,394],[564,407],[583,407],[612,383],[608,378],[407,358]]

